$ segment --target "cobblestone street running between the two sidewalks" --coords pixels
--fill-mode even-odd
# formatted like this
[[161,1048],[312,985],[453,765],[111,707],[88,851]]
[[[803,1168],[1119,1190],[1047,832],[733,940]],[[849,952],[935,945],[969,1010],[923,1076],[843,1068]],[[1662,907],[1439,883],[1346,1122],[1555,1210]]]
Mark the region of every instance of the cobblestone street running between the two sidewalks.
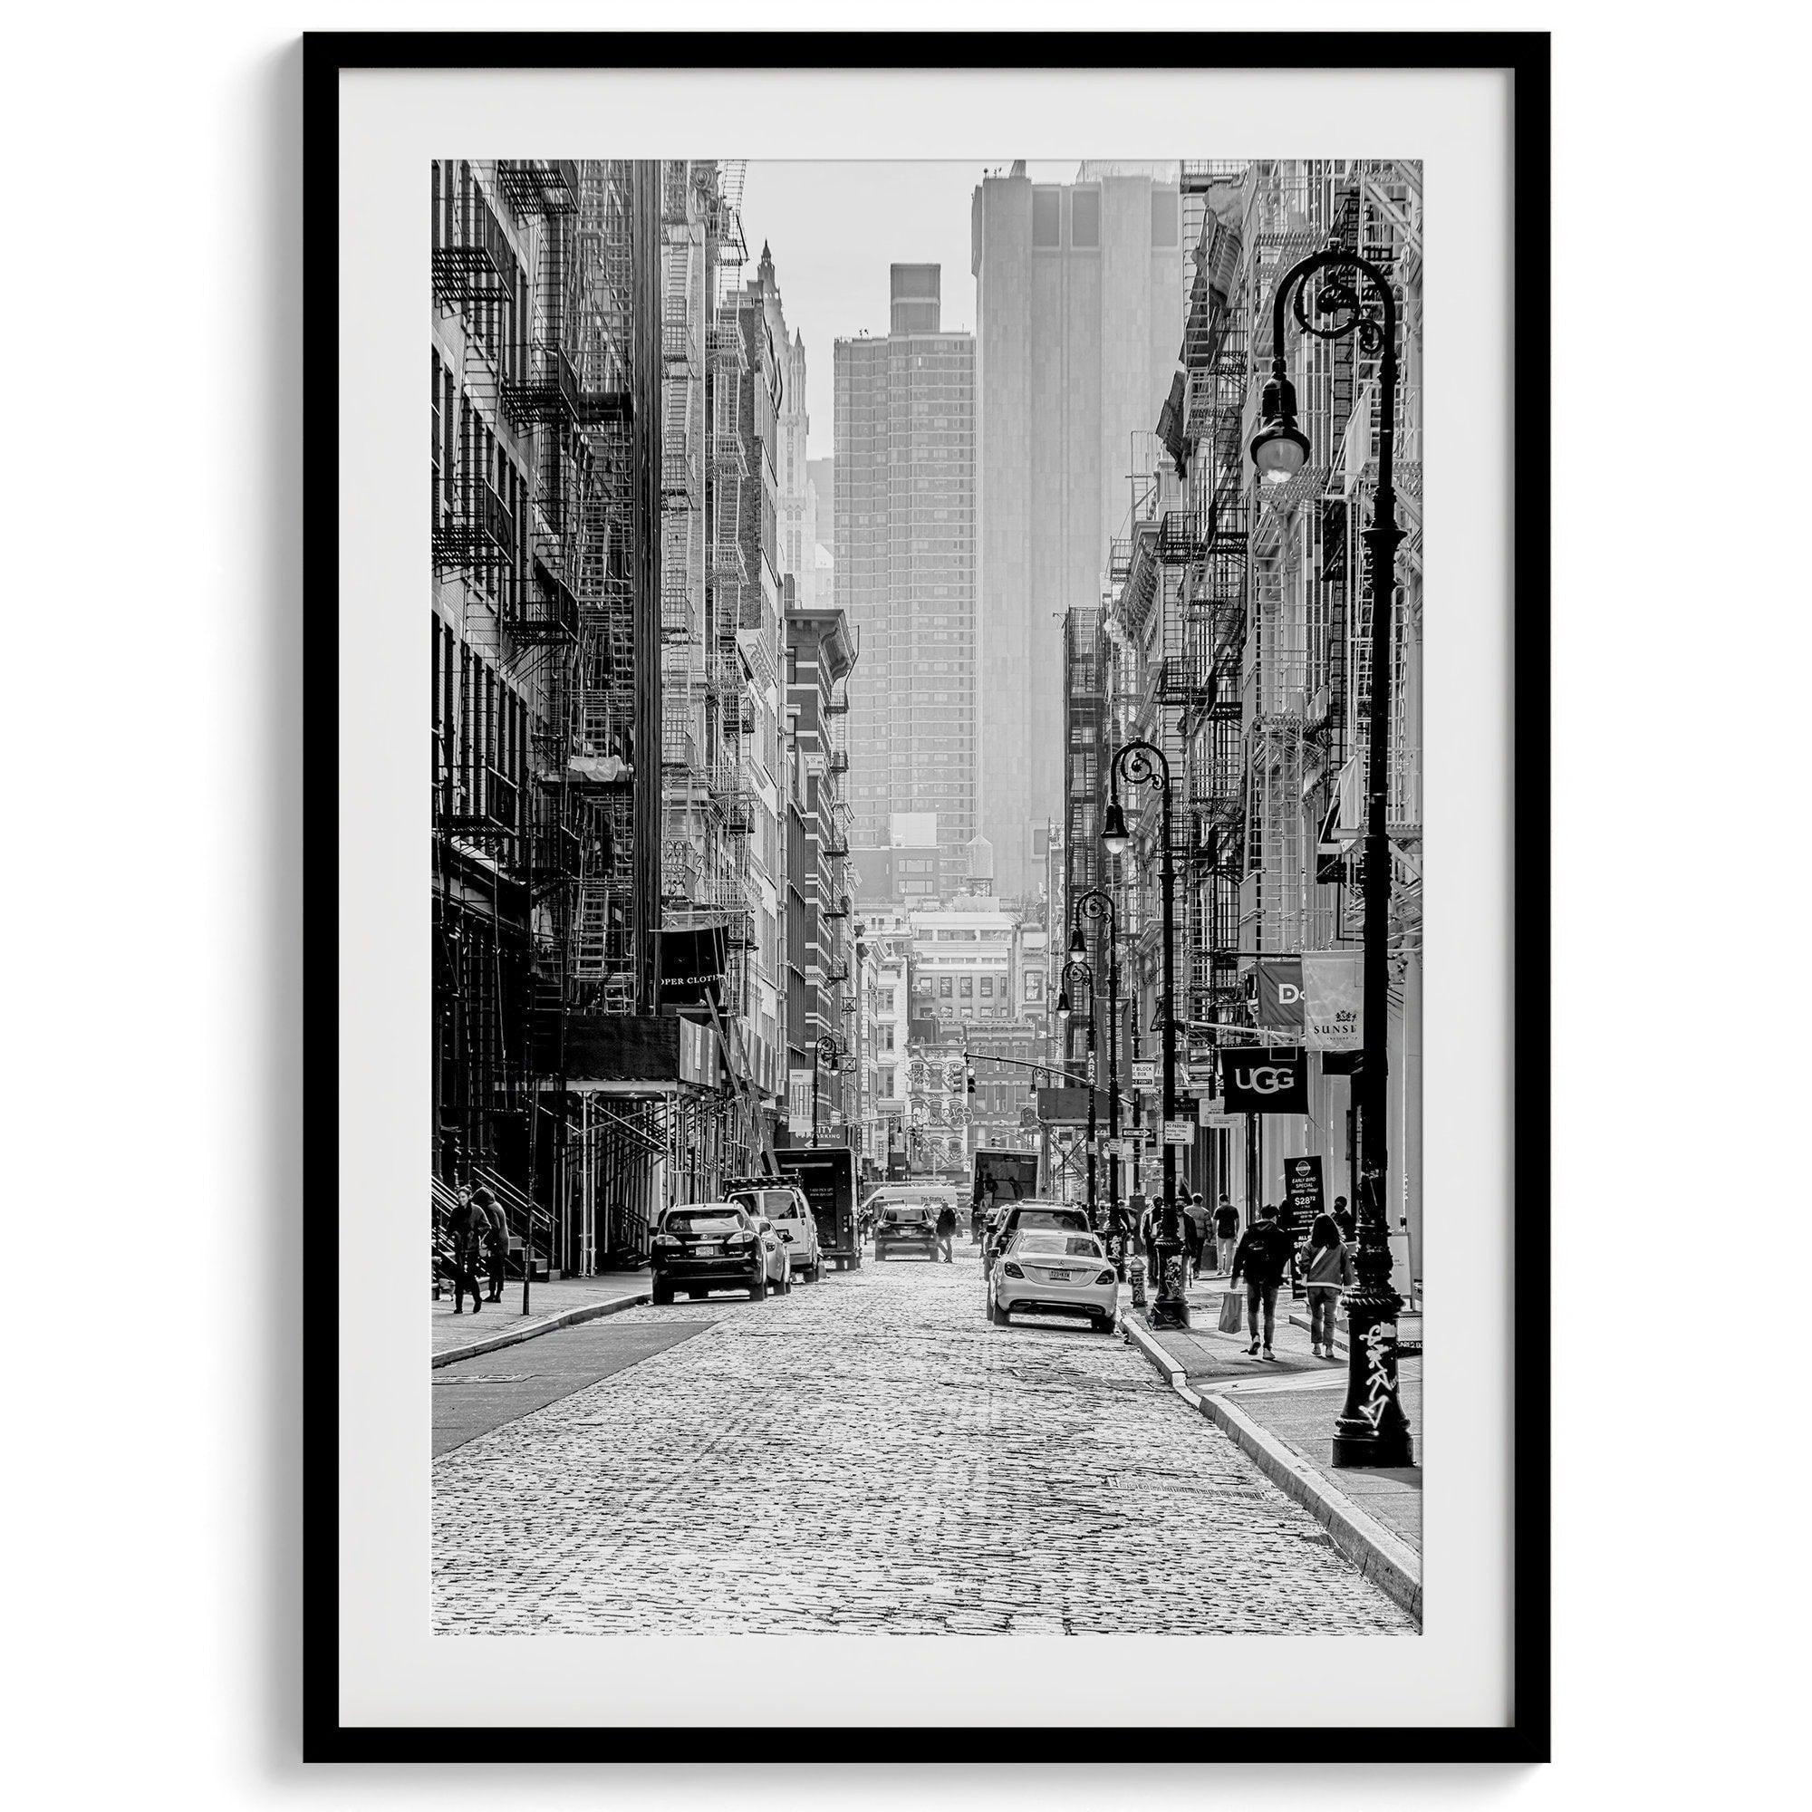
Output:
[[977,1250],[433,1373],[440,1633],[1413,1633],[1118,1337]]

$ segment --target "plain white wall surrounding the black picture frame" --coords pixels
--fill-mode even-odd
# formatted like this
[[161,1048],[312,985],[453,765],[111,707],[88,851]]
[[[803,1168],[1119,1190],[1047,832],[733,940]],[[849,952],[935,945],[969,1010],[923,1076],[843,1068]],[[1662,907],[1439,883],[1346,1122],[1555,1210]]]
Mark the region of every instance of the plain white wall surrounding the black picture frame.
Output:
[[[689,16],[747,25],[743,5]],[[926,0],[915,22],[995,9]],[[1368,25],[1444,25],[1373,5]],[[765,20],[841,25],[839,5]],[[1743,1803],[1805,1756],[1805,1118],[1798,1015],[1725,1004],[1792,957],[1807,672],[1788,14],[1497,5],[1558,24],[1557,1756],[1546,1772],[1272,1774],[1268,1805],[1515,1794]],[[643,7],[317,9],[315,24],[573,25]],[[1026,16],[1026,14],[1022,14]],[[1000,7],[986,22],[1011,22]],[[1352,7],[1142,22],[1346,27]],[[1035,24],[1104,25],[1049,4]],[[1464,22],[1471,24],[1468,16]],[[297,1765],[301,18],[56,7],[7,43],[5,395],[13,1258],[7,1779],[25,1805],[593,1796],[580,1772]],[[1798,254],[1798,255],[1796,255]],[[1776,261],[1781,261],[1776,265]],[[1759,306],[1759,304],[1758,304]],[[1770,364],[1778,359],[1779,366]],[[1732,429],[1741,424],[1741,429]],[[1725,458],[1725,449],[1736,458]],[[1740,554],[1738,554],[1740,551]],[[1711,1047],[1743,1053],[1741,1076]],[[1720,1098],[1741,1087],[1741,1098]],[[1752,1181],[1752,1176],[1756,1180]],[[1711,1243],[1754,1243],[1736,1290]],[[1727,1303],[1743,1305],[1730,1308]],[[1279,1756],[1288,1741],[1279,1741]],[[1131,1754],[1113,1759],[1132,1759]],[[1185,1759],[1198,1759],[1189,1756]],[[1201,1758],[1205,1759],[1205,1758]],[[1790,1772],[1788,1772],[1790,1770]],[[1225,1770],[1218,1770],[1225,1772]],[[1207,1787],[1210,1776],[1189,1783]],[[618,1770],[681,1801],[728,1781]],[[848,1788],[828,1770],[743,1796]],[[863,1787],[1123,1805],[1129,1770]],[[1181,1785],[1181,1783],[1180,1783]],[[1210,1788],[1212,1790],[1212,1788]]]

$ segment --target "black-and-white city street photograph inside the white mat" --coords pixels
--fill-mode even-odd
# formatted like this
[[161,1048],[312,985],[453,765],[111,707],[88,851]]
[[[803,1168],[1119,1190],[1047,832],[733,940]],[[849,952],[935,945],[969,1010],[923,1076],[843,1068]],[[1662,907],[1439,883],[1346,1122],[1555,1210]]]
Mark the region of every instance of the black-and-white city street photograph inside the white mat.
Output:
[[422,178],[435,1631],[1413,1638],[1421,165]]

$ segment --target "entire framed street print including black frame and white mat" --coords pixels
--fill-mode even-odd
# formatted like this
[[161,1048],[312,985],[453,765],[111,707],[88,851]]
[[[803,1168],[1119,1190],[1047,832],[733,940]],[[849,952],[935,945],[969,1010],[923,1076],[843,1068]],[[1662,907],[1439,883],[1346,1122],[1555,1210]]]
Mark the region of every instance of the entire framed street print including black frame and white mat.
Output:
[[1547,58],[306,40],[310,1759],[1546,1759]]

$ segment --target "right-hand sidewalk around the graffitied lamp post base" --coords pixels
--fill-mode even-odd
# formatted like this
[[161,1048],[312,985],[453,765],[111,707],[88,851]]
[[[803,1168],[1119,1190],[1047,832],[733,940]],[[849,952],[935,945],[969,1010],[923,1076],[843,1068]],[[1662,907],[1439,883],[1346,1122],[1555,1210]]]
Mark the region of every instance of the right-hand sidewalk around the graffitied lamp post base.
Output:
[[[1129,1339],[1187,1402],[1230,1435],[1283,1491],[1303,1504],[1368,1578],[1412,1614],[1422,1604],[1422,1361],[1399,1361],[1402,1410],[1415,1466],[1335,1471],[1334,1419],[1346,1401],[1346,1337],[1335,1361],[1308,1345],[1308,1305],[1277,1294],[1276,1357],[1247,1352],[1252,1335],[1219,1332],[1223,1277],[1189,1290],[1189,1332],[1151,1328],[1125,1316]],[[1301,1319],[1297,1319],[1301,1317]],[[1241,1317],[1243,1321],[1243,1317]],[[1404,1330],[1410,1332],[1408,1328]],[[1415,1339],[1421,1317],[1415,1317]]]

